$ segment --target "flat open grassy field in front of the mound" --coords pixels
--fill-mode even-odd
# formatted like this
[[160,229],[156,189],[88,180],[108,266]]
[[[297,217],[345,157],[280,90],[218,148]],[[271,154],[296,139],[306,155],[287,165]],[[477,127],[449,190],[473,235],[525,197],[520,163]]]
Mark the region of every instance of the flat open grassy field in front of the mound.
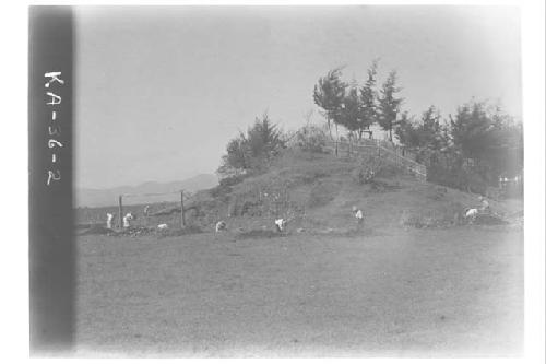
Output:
[[503,356],[523,337],[514,226],[78,239],[79,355]]

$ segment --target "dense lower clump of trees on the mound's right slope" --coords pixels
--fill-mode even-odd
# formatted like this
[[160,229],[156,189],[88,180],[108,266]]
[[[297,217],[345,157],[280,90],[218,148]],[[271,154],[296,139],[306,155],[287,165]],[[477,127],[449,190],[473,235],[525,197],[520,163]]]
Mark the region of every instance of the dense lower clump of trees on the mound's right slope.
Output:
[[484,102],[460,106],[449,120],[430,106],[420,120],[406,115],[396,133],[427,165],[429,179],[446,186],[484,193],[523,169],[521,122]]

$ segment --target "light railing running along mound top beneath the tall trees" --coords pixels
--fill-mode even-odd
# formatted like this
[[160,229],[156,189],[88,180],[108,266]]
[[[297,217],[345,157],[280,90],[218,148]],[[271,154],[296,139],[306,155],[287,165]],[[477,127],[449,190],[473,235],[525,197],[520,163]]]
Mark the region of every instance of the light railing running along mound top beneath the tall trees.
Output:
[[388,141],[376,139],[363,139],[357,142],[340,141],[337,143],[330,141],[327,142],[327,148],[332,153],[335,153],[337,149],[337,156],[378,155],[412,172],[418,180],[427,180],[427,167],[415,162],[413,153],[407,153]]

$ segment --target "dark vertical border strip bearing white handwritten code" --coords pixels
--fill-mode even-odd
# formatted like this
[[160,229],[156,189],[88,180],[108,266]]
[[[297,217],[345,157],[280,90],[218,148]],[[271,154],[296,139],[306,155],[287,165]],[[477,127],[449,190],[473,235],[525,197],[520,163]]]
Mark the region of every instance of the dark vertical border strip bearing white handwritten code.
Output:
[[73,342],[73,13],[29,8],[29,344],[31,354]]

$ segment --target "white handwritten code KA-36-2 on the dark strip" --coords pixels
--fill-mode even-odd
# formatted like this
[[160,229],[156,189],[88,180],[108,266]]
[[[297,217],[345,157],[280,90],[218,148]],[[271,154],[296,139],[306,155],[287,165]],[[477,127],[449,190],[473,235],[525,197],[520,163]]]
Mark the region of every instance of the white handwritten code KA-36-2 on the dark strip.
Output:
[[46,185],[50,186],[55,181],[61,179],[61,171],[59,169],[59,153],[62,149],[61,136],[61,87],[64,81],[61,79],[62,72],[52,71],[44,74],[46,83],[44,85],[46,92],[46,105],[48,106],[48,125],[47,125],[47,148],[49,150],[49,168],[47,171]]

